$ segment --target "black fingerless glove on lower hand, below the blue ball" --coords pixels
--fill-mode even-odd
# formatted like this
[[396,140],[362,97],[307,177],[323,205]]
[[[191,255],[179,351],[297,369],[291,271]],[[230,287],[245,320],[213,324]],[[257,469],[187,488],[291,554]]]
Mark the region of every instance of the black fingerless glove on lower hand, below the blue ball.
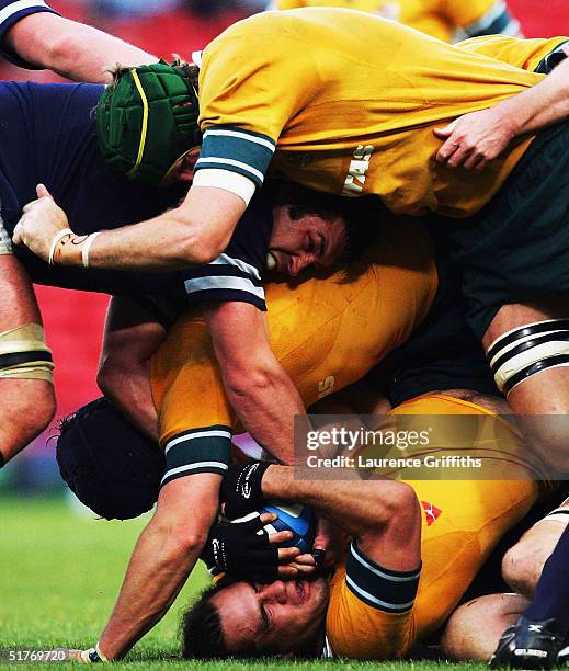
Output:
[[235,578],[273,582],[278,577],[278,549],[269,542],[260,518],[249,522],[217,522],[209,531],[202,559],[214,576],[227,571]]

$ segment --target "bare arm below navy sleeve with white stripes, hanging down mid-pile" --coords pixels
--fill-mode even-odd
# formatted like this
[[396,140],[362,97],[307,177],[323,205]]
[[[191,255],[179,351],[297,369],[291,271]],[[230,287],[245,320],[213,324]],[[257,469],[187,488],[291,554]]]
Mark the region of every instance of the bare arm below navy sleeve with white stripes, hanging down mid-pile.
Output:
[[265,314],[249,303],[218,303],[205,318],[228,400],[253,437],[277,459],[294,459],[300,396],[271,349]]

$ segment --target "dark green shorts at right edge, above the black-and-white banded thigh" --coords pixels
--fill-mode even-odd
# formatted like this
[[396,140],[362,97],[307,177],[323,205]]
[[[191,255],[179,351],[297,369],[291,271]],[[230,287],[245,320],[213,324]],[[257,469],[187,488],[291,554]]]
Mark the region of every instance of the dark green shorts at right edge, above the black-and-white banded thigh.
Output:
[[478,338],[504,304],[569,294],[569,122],[537,135],[479,213],[439,227],[462,265]]

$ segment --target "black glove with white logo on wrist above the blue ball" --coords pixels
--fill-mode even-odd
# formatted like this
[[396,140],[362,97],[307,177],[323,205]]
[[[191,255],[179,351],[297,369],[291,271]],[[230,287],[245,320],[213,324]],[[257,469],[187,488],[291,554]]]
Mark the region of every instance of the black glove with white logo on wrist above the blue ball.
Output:
[[225,474],[219,500],[225,503],[225,516],[242,518],[263,507],[261,480],[270,462],[253,462],[247,466],[234,466]]

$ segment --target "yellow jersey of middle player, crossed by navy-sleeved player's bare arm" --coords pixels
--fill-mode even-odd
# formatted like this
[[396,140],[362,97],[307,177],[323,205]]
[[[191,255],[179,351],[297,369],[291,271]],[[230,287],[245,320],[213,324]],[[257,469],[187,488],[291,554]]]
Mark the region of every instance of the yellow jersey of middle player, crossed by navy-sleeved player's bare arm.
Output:
[[[310,406],[356,382],[406,342],[436,287],[430,239],[409,223],[383,227],[348,276],[341,270],[327,278],[265,285],[271,346],[303,402]],[[162,447],[200,450],[207,462],[212,441],[229,442],[237,418],[195,311],[177,322],[152,356],[150,384]]]

